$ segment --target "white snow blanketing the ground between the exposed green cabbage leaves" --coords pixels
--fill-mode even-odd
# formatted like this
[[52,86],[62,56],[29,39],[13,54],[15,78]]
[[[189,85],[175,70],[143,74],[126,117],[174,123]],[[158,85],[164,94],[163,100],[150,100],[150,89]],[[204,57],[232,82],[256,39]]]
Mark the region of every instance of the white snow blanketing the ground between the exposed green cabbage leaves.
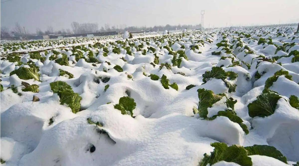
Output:
[[[276,36],[277,28],[285,37]],[[295,56],[263,62],[257,58],[260,55],[266,58],[288,56],[291,50],[299,50],[299,41],[295,39],[295,46],[277,54],[276,46],[268,44],[268,41],[264,45],[257,44],[262,35],[265,39],[271,37],[274,44],[282,46],[291,42],[290,38],[294,35],[289,31],[293,29],[288,26],[265,26],[191,32],[184,29],[184,33],[182,30],[165,30],[163,33],[134,34],[133,39],[128,39],[129,32],[126,31],[123,35],[115,36],[57,39],[66,42],[76,40],[68,45],[42,40],[39,45],[44,44],[45,47],[34,45],[33,50],[56,48],[60,53],[68,55],[70,66],[49,60],[53,55],[51,50],[48,50],[48,55],[41,53],[46,57],[44,62],[30,59],[28,53],[20,54],[21,62],[32,60],[39,67],[39,82],[20,79],[16,74],[10,76],[10,72],[19,65],[17,62],[1,60],[1,85],[4,89],[0,93],[1,159],[6,161],[3,165],[199,165],[204,154],[213,151],[214,148],[210,146],[213,142],[224,142],[228,146],[270,145],[286,156],[289,163],[296,162],[299,160],[299,110],[290,105],[289,96],[299,97],[299,62],[292,63]],[[251,34],[250,38],[239,38],[242,47],[235,47],[239,43],[236,31]],[[263,33],[268,31],[271,33]],[[222,33],[226,38],[223,38]],[[116,43],[117,40],[126,44]],[[223,46],[216,46],[222,40],[228,41],[228,48],[233,45],[231,53],[225,53]],[[93,47],[96,42],[105,45]],[[140,44],[144,47],[138,47]],[[77,45],[85,46],[82,52],[87,60],[80,58],[76,61],[72,46]],[[193,51],[190,47],[194,45],[199,49]],[[245,51],[245,45],[250,50]],[[155,54],[148,51],[150,46],[155,48]],[[3,47],[1,45],[2,53]],[[103,47],[109,51],[108,56],[104,56]],[[112,52],[114,47],[120,48],[120,54]],[[126,53],[126,47],[131,49],[132,55]],[[99,63],[89,62],[89,50],[92,50]],[[184,51],[188,60],[179,57],[179,54],[171,55],[171,52],[179,50]],[[212,55],[214,51],[221,51],[221,55]],[[248,51],[253,53],[247,54]],[[158,63],[155,56],[159,57]],[[233,57],[234,60],[220,60],[221,56]],[[62,54],[58,57],[62,57]],[[174,65],[179,58],[180,66]],[[239,65],[236,65],[238,62]],[[160,70],[162,63],[170,64],[171,69],[164,66]],[[122,67],[123,71],[115,70],[116,65]],[[28,64],[21,66],[29,67]],[[210,78],[203,84],[203,74],[215,66],[222,67],[225,72],[237,73],[237,78]],[[74,78],[60,76],[59,69],[72,73]],[[262,93],[266,80],[281,69],[289,72],[292,81],[279,76],[270,87],[282,96],[274,108],[275,112],[267,117],[250,117],[248,104]],[[257,72],[260,77],[257,77]],[[150,74],[160,79],[152,80],[148,77]],[[176,83],[178,90],[172,87],[165,89],[161,84],[163,75],[167,76],[169,84]],[[49,84],[58,80],[69,84],[82,97],[78,113],[72,113],[70,107],[60,104],[60,97],[51,90]],[[39,93],[22,91],[25,88],[21,85],[22,81],[30,85],[38,84]],[[229,93],[225,81],[236,84],[235,91]],[[108,84],[109,88],[105,91]],[[195,87],[186,90],[190,84]],[[17,87],[17,93],[13,92],[12,85]],[[199,107],[199,88],[225,94],[225,97],[207,108],[207,117],[228,109],[227,98],[237,100],[234,111],[248,127],[249,134],[246,135],[240,125],[228,117],[218,116],[214,120],[207,120],[198,113],[194,114],[193,107]],[[40,100],[33,102],[33,95]],[[133,117],[121,114],[114,107],[123,96],[133,98],[136,103]],[[100,122],[103,127],[89,124],[87,118]],[[95,151],[91,153],[92,146]],[[287,165],[268,156],[249,157],[253,165]],[[238,164],[220,161],[214,165]]]

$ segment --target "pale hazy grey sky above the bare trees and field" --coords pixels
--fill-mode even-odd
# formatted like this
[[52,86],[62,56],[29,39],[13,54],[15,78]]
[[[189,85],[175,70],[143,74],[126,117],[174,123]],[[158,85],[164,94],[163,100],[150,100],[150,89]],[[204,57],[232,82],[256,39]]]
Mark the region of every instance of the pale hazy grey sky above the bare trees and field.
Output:
[[111,26],[166,24],[278,24],[299,21],[299,0],[1,0],[1,27],[16,22],[29,32],[36,28],[70,28],[71,21]]

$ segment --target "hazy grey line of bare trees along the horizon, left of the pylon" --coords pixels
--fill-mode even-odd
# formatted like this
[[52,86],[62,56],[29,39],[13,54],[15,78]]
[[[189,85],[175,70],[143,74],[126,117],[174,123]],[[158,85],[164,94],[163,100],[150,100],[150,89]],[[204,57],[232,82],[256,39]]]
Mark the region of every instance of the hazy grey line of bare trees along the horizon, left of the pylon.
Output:
[[27,36],[32,35],[49,35],[49,34],[57,34],[57,35],[65,35],[65,34],[82,34],[82,33],[97,33],[97,32],[109,32],[109,31],[164,31],[164,30],[181,30],[181,29],[199,29],[201,28],[200,24],[197,25],[170,25],[167,24],[165,26],[154,26],[154,27],[146,27],[146,26],[129,26],[127,27],[126,24],[114,25],[111,26],[109,24],[104,24],[99,29],[97,23],[78,23],[77,21],[71,22],[71,29],[61,29],[55,31],[53,27],[48,26],[45,31],[42,31],[40,28],[36,28],[35,33],[28,33],[25,32],[25,28],[22,27],[19,23],[15,24],[13,29],[8,29],[7,27],[1,27],[0,31],[0,38],[1,39],[11,39],[12,37],[22,37],[26,38]]

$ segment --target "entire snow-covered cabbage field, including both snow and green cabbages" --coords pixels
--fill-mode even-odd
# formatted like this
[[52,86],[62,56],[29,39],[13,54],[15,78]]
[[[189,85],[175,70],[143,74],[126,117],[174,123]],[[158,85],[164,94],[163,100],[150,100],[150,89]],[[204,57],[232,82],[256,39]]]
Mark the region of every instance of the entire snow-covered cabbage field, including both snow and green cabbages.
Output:
[[1,43],[1,165],[295,165],[294,32]]

